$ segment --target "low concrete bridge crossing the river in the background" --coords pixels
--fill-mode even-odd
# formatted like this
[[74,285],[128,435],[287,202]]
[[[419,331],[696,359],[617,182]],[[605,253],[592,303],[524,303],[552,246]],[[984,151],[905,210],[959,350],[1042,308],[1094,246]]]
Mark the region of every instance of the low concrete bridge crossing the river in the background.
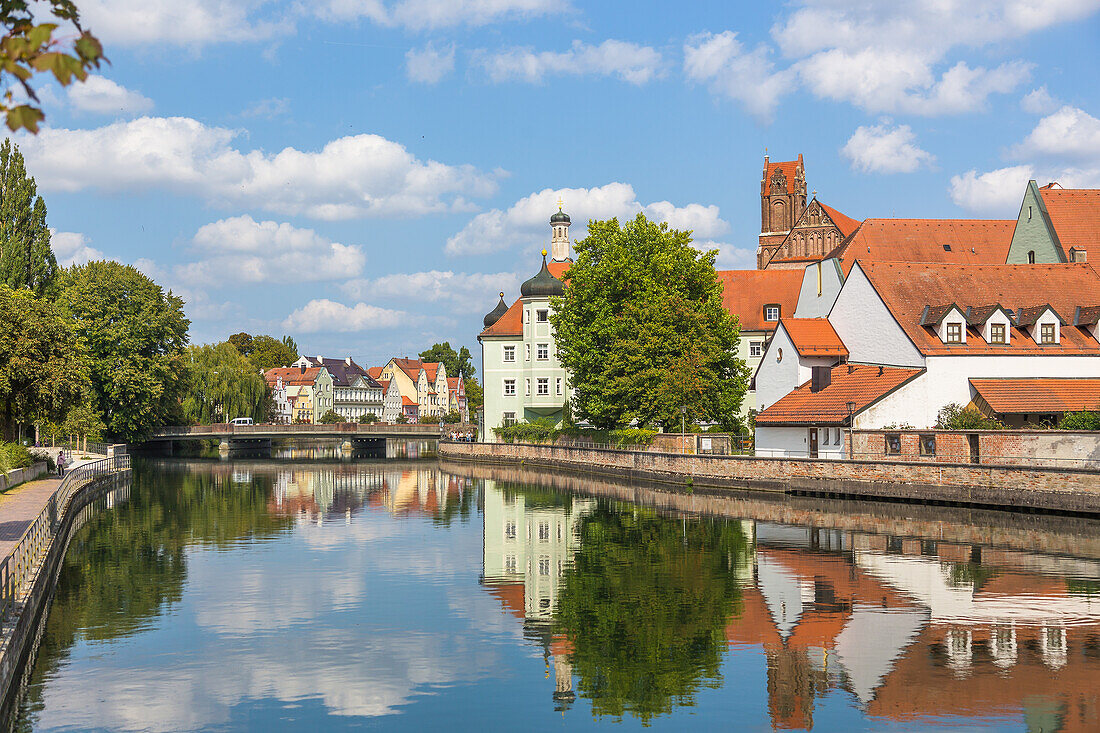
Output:
[[[450,426],[449,426],[450,427]],[[272,440],[330,440],[345,450],[385,448],[387,440],[438,440],[438,425],[184,425],[154,430],[145,445],[165,445],[188,440],[219,440],[221,450],[270,448]]]

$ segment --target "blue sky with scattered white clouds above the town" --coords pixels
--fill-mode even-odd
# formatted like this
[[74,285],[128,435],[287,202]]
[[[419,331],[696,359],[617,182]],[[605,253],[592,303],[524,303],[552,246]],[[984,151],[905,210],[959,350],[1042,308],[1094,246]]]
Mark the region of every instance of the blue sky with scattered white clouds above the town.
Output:
[[1100,0],[85,0],[102,78],[18,141],[58,258],[134,263],[196,342],[369,364],[518,295],[561,196],[755,263],[802,153],[857,219],[1014,218],[1100,186]]

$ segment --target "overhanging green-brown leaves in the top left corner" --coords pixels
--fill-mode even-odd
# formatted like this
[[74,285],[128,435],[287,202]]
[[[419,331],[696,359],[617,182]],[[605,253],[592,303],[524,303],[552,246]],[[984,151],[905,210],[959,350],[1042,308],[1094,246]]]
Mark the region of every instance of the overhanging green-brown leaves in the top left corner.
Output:
[[[52,18],[51,18],[52,15]],[[38,20],[56,21],[38,23]],[[59,24],[76,28],[76,34],[58,32]],[[73,0],[4,0],[0,3],[0,81],[7,90],[0,101],[8,128],[38,131],[45,119],[31,81],[36,74],[53,74],[63,87],[74,79],[84,81],[88,72],[107,58],[103,47],[80,26],[80,13]],[[19,85],[26,100],[13,94]]]

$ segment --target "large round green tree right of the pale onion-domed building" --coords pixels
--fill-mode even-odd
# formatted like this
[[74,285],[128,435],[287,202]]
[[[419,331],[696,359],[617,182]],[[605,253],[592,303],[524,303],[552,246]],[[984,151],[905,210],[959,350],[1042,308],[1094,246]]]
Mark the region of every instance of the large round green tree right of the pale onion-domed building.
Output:
[[736,427],[748,369],[736,357],[716,252],[640,214],[622,227],[591,221],[575,249],[569,287],[551,299],[574,416],[605,429],[632,420],[671,428],[686,406],[689,422]]

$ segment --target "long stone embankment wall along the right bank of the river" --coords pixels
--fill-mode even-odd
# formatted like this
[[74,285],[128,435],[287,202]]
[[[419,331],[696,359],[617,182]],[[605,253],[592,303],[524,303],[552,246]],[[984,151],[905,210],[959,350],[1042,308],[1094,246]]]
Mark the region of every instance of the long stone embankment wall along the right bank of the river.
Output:
[[565,468],[680,486],[1100,514],[1100,472],[1085,469],[685,456],[484,442],[442,444],[439,456],[457,460]]

